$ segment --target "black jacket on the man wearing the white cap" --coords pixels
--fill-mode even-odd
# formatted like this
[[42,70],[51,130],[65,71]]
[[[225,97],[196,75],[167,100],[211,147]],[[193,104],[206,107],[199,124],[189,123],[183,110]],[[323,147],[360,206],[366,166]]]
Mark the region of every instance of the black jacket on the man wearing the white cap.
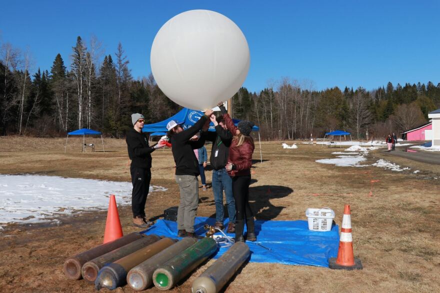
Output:
[[194,150],[204,145],[205,137],[202,134],[197,141],[190,141],[189,139],[200,131],[206,119],[206,116],[203,115],[190,128],[171,136],[170,142],[175,163],[175,175],[199,175],[198,161]]

